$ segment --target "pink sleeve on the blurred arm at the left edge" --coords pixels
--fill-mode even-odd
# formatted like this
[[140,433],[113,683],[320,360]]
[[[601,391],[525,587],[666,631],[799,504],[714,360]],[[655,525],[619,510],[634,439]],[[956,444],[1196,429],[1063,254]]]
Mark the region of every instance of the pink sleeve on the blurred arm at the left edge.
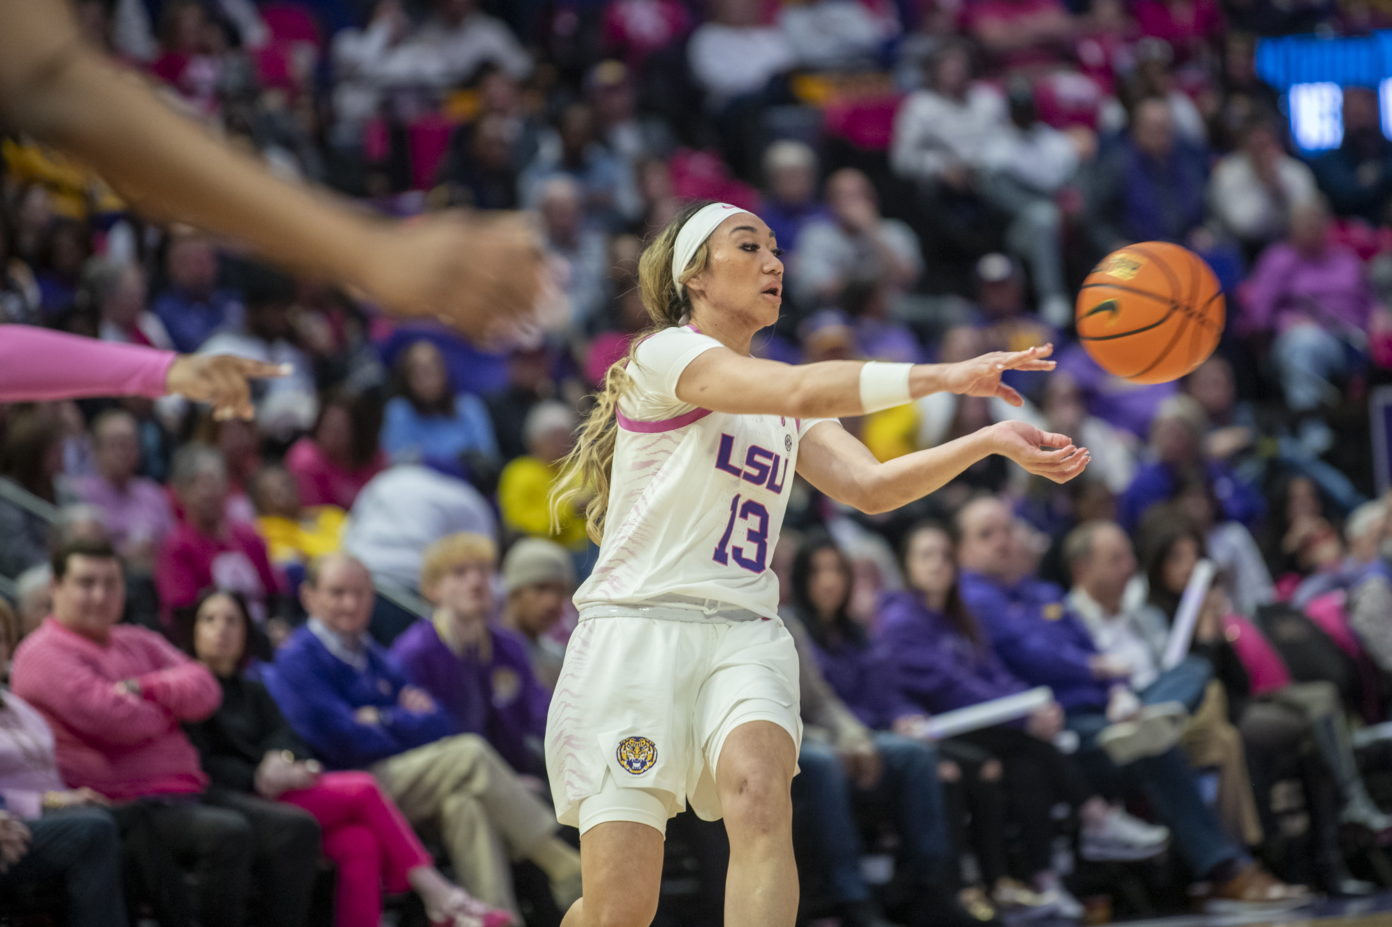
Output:
[[0,326],[0,402],[160,397],[177,356],[33,326]]

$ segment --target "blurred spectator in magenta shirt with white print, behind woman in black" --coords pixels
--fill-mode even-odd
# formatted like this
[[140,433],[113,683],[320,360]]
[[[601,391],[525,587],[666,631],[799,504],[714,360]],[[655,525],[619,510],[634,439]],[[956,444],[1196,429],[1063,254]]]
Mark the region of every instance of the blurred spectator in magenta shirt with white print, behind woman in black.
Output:
[[245,596],[253,621],[264,625],[281,583],[256,529],[227,518],[223,455],[206,444],[180,448],[170,484],[184,522],[164,539],[156,569],[166,626],[173,626],[175,614],[212,587]]

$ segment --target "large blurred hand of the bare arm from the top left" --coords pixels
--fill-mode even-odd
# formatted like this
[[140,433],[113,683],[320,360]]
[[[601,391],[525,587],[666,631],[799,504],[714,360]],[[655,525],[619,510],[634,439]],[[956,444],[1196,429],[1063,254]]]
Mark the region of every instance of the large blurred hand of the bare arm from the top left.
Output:
[[387,309],[477,342],[526,324],[546,285],[541,234],[522,213],[450,212],[381,227],[361,280]]

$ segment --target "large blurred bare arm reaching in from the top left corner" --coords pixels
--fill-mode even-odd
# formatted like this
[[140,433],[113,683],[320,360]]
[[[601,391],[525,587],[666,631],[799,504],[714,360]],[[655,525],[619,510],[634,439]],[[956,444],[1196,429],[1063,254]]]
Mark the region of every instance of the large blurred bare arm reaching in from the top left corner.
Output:
[[245,241],[274,263],[361,287],[398,315],[482,337],[537,298],[541,253],[522,216],[401,225],[283,182],[88,47],[61,0],[0,0],[0,124],[82,160],[155,219]]

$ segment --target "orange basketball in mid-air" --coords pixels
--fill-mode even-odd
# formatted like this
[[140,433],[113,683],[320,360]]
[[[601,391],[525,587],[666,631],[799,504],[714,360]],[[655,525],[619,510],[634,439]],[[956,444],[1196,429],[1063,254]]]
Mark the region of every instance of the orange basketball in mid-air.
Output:
[[1204,259],[1147,241],[1107,255],[1077,294],[1077,338],[1093,360],[1133,383],[1169,383],[1218,347],[1222,287]]

